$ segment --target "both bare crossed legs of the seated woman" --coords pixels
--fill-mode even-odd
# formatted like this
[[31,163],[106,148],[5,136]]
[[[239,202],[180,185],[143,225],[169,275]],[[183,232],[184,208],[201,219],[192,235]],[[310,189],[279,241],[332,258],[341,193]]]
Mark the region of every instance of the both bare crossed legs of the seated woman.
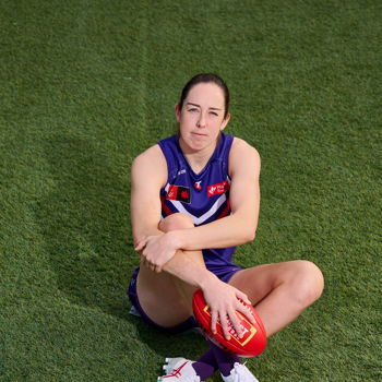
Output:
[[[191,227],[192,220],[184,214],[170,215],[159,223],[159,229],[164,232]],[[205,267],[201,251],[184,253]],[[324,286],[321,271],[309,261],[242,270],[231,277],[229,284],[247,294],[263,321],[267,336],[294,321],[321,296]],[[164,327],[184,322],[192,314],[194,290],[194,287],[166,272],[157,274],[145,266],[140,270],[140,303],[145,313]]]

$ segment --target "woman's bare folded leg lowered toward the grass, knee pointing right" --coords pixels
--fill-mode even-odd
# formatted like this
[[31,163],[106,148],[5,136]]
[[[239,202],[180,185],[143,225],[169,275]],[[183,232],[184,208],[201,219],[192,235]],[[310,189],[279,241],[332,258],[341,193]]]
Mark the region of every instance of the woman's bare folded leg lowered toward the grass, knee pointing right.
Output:
[[313,263],[299,260],[240,271],[229,284],[248,295],[271,336],[320,298],[324,279]]

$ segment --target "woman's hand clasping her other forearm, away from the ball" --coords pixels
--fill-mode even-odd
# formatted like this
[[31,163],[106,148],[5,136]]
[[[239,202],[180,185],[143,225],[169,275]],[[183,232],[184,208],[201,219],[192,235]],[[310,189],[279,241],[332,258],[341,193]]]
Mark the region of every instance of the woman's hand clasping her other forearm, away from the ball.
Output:
[[135,251],[141,253],[141,263],[154,272],[162,272],[163,266],[178,250],[172,236],[169,234],[147,236],[135,246]]

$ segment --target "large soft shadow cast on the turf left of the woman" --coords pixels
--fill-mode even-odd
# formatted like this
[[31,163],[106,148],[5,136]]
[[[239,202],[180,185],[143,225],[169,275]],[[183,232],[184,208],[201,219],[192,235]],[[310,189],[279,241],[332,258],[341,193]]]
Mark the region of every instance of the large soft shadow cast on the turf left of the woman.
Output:
[[136,262],[129,260],[130,184],[103,150],[76,136],[46,141],[50,192],[36,220],[58,288],[74,303],[128,319],[126,289]]

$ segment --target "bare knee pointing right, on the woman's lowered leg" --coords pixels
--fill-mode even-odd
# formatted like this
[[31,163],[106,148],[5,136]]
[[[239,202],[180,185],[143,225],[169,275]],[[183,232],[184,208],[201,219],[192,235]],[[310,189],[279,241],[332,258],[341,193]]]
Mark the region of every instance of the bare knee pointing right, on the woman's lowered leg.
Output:
[[312,262],[298,260],[294,262],[294,298],[302,308],[318,300],[324,288],[324,278],[320,268]]

